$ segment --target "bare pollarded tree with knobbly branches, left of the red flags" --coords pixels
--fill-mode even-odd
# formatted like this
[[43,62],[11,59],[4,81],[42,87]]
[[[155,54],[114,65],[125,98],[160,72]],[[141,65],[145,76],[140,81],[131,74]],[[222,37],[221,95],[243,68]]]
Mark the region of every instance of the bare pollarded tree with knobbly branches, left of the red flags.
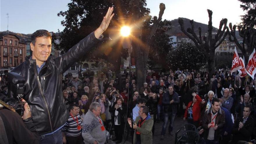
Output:
[[179,25],[181,26],[181,31],[187,35],[194,43],[195,46],[198,47],[207,57],[208,69],[210,74],[214,73],[214,55],[215,49],[223,42],[225,37],[228,35],[228,27],[227,27],[227,19],[222,19],[220,21],[219,29],[216,35],[212,33],[212,11],[208,11],[209,22],[208,22],[208,36],[203,36],[201,34],[201,27],[198,28],[199,36],[195,34],[194,31],[194,21],[191,20],[191,28],[188,28],[185,31],[184,22],[182,18],[179,18]]

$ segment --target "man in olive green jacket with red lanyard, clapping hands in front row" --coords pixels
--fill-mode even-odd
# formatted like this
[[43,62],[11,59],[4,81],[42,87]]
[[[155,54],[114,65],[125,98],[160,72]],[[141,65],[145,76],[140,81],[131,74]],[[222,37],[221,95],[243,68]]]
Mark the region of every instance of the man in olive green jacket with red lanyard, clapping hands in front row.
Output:
[[153,117],[148,115],[149,109],[147,106],[141,106],[139,110],[139,116],[136,117],[135,122],[133,123],[131,119],[128,118],[128,123],[130,127],[133,127],[134,137],[133,141],[134,144],[152,144],[153,143],[153,136],[152,136],[152,127],[154,124]]

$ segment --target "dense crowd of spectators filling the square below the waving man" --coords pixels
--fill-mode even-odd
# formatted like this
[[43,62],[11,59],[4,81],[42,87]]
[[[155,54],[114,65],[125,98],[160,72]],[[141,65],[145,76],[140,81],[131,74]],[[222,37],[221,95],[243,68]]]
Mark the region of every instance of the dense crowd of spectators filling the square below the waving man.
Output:
[[[240,78],[229,70],[216,71],[211,77],[207,71],[153,71],[147,72],[143,87],[136,88],[134,72],[131,72],[131,76],[126,71],[124,74],[126,77],[121,83],[104,74],[102,85],[97,76],[78,78],[67,74],[62,85],[65,102],[71,106],[66,125],[70,122],[74,124],[76,119],[77,125],[86,125],[84,120],[88,119],[88,111],[96,109],[94,106],[95,109],[90,111],[90,104],[97,102],[102,125],[107,130],[114,129],[115,136],[112,138],[116,143],[122,142],[127,118],[135,122],[136,127],[139,126],[140,119],[136,118],[140,115],[140,108],[144,109],[145,106],[148,112],[144,114],[148,120],[152,120],[151,129],[147,128],[151,131],[151,138],[155,122],[161,121],[161,139],[165,138],[167,126],[168,133],[173,135],[174,121],[179,117],[199,128],[200,136],[206,143],[237,143],[239,140],[250,141],[255,138],[253,118],[256,81],[250,77]],[[2,93],[6,93],[5,85]],[[74,142],[73,138],[77,135],[77,139],[82,141],[82,129],[69,132],[64,126],[62,130],[66,131],[66,135],[64,132],[63,142]],[[150,135],[148,131],[146,135]],[[138,139],[136,133],[134,138]],[[143,141],[143,137],[140,138]]]

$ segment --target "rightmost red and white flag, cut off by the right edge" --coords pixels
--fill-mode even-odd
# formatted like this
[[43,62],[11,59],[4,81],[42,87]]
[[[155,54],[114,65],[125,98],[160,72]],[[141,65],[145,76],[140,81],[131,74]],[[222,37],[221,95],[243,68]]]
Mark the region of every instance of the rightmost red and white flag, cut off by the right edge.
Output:
[[254,74],[256,73],[256,53],[253,49],[253,53],[249,56],[249,61],[246,66],[246,72],[250,77],[254,79]]

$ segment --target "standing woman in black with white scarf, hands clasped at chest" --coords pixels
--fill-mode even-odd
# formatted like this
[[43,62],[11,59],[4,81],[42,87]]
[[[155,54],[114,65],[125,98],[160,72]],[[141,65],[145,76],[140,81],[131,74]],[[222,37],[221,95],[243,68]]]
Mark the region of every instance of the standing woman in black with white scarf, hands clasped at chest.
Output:
[[115,143],[122,142],[122,135],[124,132],[124,114],[126,112],[125,106],[122,104],[123,99],[118,97],[116,102],[114,102],[113,106],[109,111],[114,114],[114,129],[115,129],[115,139],[113,141],[117,141]]

